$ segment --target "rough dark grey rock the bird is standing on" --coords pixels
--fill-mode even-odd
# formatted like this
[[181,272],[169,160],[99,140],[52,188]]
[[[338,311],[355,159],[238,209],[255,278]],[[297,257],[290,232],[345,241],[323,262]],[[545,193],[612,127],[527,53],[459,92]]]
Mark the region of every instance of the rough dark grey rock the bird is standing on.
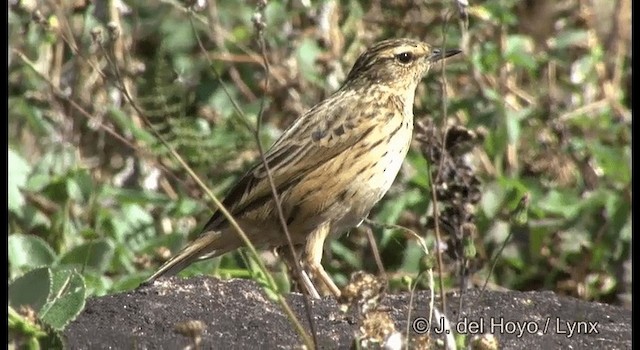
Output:
[[[482,325],[484,333],[493,332],[500,349],[631,348],[630,310],[551,292],[486,291],[480,300],[478,296],[478,291],[464,294],[460,318],[458,296],[447,298],[451,325],[466,332],[468,339],[480,331],[471,328]],[[308,327],[303,297],[291,294],[287,299]],[[409,294],[386,295],[381,305],[403,334],[409,300]],[[359,316],[341,312],[333,298],[312,300],[311,309],[318,348],[352,347],[362,325]],[[412,323],[426,317],[428,310],[428,292],[416,293]],[[170,278],[131,292],[92,298],[64,338],[70,349],[185,349],[192,348],[193,338],[176,332],[175,326],[193,320],[204,325],[201,349],[299,349],[302,344],[280,306],[258,284],[210,277]],[[465,330],[465,325],[470,327]],[[410,334],[414,337],[415,330]]]

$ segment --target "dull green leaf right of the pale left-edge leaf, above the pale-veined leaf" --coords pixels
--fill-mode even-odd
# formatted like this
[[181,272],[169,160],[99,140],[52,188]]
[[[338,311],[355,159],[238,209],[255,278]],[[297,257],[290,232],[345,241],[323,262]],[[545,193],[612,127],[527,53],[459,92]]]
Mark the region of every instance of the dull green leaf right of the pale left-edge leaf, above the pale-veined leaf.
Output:
[[60,258],[60,264],[77,264],[104,272],[111,265],[113,252],[111,241],[98,239],[73,248]]

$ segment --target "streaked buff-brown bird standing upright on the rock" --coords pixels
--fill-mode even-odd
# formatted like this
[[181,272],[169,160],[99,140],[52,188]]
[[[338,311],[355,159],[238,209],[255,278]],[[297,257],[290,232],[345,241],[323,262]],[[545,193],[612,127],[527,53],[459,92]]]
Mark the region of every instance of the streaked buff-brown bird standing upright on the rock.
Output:
[[[358,226],[387,192],[411,142],[418,83],[434,62],[459,52],[411,39],[373,45],[342,87],[300,116],[267,151],[293,244],[303,253],[305,269],[336,297],[340,290],[320,264],[325,239]],[[223,205],[254,245],[287,244],[262,162],[236,183]],[[202,234],[145,283],[242,245],[217,211]],[[303,286],[318,297],[308,278]]]

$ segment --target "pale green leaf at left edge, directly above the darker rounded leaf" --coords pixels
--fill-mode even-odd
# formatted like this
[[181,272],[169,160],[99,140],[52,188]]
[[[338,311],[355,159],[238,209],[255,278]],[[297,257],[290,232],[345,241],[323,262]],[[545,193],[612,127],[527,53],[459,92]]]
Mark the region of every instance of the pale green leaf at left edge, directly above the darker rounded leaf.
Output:
[[13,234],[7,241],[11,268],[51,265],[56,255],[45,240],[34,235]]

